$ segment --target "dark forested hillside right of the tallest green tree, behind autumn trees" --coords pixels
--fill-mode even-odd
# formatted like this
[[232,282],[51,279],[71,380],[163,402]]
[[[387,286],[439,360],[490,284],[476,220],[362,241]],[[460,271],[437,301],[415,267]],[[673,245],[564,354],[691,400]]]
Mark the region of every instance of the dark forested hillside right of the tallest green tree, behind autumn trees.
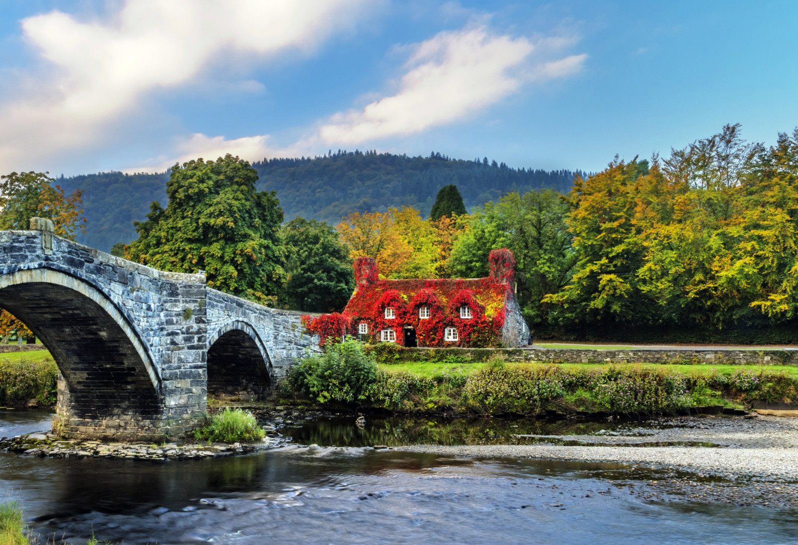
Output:
[[551,188],[567,191],[570,170],[511,169],[504,163],[452,160],[431,153],[408,157],[393,153],[342,152],[311,159],[270,159],[252,165],[259,189],[277,192],[286,220],[314,217],[337,224],[350,212],[385,212],[410,205],[423,217],[438,189],[455,184],[467,208],[495,200],[511,191]]

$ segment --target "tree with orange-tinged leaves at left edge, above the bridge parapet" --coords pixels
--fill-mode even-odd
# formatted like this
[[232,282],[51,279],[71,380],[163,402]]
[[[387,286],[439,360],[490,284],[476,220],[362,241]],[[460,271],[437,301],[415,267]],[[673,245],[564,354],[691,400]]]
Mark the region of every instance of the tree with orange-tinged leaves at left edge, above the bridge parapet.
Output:
[[81,190],[67,197],[60,185],[53,187],[48,173],[10,173],[0,176],[0,229],[30,229],[31,217],[53,221],[55,234],[75,240],[85,233]]

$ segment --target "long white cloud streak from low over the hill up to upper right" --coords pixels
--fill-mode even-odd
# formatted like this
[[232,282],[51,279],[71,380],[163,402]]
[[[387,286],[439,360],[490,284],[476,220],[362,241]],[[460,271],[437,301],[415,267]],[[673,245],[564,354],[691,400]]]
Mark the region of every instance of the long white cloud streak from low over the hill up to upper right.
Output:
[[527,38],[492,34],[484,24],[441,32],[425,42],[402,48],[410,51],[397,92],[388,97],[369,93],[361,109],[336,113],[287,147],[259,135],[226,140],[196,133],[180,141],[171,161],[161,157],[155,166],[128,172],[163,172],[177,162],[225,153],[248,161],[263,157],[298,157],[323,153],[328,146],[356,145],[386,137],[420,133],[460,121],[516,93],[529,82],[564,78],[582,69],[586,54],[563,57],[575,44],[573,36]]

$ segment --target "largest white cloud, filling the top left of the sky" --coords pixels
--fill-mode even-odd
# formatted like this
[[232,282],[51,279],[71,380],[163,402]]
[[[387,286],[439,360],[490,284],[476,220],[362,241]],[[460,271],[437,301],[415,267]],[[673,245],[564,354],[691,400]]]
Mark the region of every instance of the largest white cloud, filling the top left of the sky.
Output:
[[109,20],[81,22],[59,11],[26,18],[24,36],[50,70],[35,93],[26,84],[22,96],[0,105],[0,171],[90,145],[148,93],[191,82],[213,62],[309,53],[373,3],[126,0]]

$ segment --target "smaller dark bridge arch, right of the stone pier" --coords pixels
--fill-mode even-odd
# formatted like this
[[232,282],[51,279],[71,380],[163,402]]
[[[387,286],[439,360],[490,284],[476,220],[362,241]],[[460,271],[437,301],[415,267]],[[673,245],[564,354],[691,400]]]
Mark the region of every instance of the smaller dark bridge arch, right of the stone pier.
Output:
[[267,394],[274,380],[271,357],[255,328],[229,320],[207,340],[207,393],[210,396]]

